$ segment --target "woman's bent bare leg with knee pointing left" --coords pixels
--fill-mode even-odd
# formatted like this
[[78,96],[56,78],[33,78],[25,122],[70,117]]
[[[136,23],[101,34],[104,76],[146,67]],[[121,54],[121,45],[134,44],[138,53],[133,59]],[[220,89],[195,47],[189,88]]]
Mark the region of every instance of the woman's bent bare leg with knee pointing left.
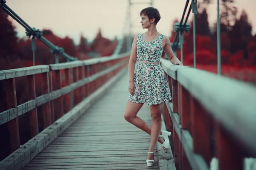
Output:
[[[151,135],[151,127],[148,126],[148,124],[143,119],[137,116],[137,113],[140,111],[140,108],[142,108],[142,106],[143,103],[134,103],[128,101],[125,108],[124,118],[127,122],[130,122],[134,126]],[[158,138],[158,142],[163,144],[164,141],[162,138]]]

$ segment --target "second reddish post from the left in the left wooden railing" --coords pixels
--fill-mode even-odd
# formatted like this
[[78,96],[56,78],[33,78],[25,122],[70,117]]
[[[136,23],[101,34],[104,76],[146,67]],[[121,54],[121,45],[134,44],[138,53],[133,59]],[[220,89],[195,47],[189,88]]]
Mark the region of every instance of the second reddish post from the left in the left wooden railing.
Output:
[[[27,76],[29,84],[29,100],[35,99],[35,75]],[[29,111],[29,126],[30,126],[30,137],[34,137],[38,134],[38,115],[37,108],[35,107]]]

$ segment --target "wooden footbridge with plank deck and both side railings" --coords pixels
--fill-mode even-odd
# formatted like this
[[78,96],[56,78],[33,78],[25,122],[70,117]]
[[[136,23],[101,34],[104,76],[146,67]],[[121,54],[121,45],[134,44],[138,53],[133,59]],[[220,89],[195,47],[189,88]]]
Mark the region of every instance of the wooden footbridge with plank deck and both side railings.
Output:
[[[219,170],[241,170],[246,157],[255,157],[256,88],[162,59],[172,89],[172,101],[162,111],[162,129],[172,132],[171,149],[158,143],[156,164],[147,167],[150,136],[123,117],[128,60],[127,53],[0,71],[8,107],[0,113],[0,125],[9,127],[9,139],[1,139],[1,150],[8,154],[0,169],[208,170],[215,158]],[[38,75],[41,96],[35,95]],[[17,77],[29,82],[31,100],[21,105],[16,102]],[[43,122],[38,119],[41,106]],[[19,125],[23,115],[29,119]],[[151,124],[147,105],[138,116]],[[30,130],[22,145],[19,127]]]

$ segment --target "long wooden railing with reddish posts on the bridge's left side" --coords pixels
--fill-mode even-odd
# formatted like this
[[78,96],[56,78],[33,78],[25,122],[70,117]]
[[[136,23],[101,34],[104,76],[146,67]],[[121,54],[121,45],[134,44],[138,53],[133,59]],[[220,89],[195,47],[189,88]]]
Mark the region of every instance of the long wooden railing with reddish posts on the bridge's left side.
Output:
[[[20,148],[19,127],[29,126],[28,140],[32,139],[40,132],[38,130],[40,123],[46,129],[62,118],[65,113],[90,97],[100,86],[125,68],[128,60],[129,53],[125,53],[119,56],[0,71],[0,81],[4,81],[6,90],[6,99],[1,96],[1,101],[7,102],[6,111],[0,113],[0,126],[6,125],[7,130],[9,129],[7,133],[9,135],[1,134],[1,138],[9,137],[10,144],[10,146],[2,144],[0,149],[8,152],[8,155],[13,153]],[[38,88],[35,85],[35,77],[38,74],[41,75],[41,96],[36,96],[35,89]],[[21,105],[17,105],[16,100],[15,78],[17,77],[26,77],[29,85],[27,95],[30,100]],[[38,107],[43,107],[43,120],[38,118]],[[19,117],[23,114],[29,114],[29,119],[23,122],[23,125],[19,125]],[[37,148],[34,148],[34,151],[35,149]],[[22,159],[24,158],[26,156]],[[1,165],[3,164],[0,163]]]

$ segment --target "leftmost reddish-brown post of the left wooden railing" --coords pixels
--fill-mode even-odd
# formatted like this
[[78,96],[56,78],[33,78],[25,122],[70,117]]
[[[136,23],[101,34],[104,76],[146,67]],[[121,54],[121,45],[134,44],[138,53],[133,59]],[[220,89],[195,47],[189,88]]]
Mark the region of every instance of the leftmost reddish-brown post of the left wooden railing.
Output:
[[[15,78],[5,80],[7,110],[17,107]],[[19,121],[18,117],[8,122],[10,134],[11,152],[20,147]]]

